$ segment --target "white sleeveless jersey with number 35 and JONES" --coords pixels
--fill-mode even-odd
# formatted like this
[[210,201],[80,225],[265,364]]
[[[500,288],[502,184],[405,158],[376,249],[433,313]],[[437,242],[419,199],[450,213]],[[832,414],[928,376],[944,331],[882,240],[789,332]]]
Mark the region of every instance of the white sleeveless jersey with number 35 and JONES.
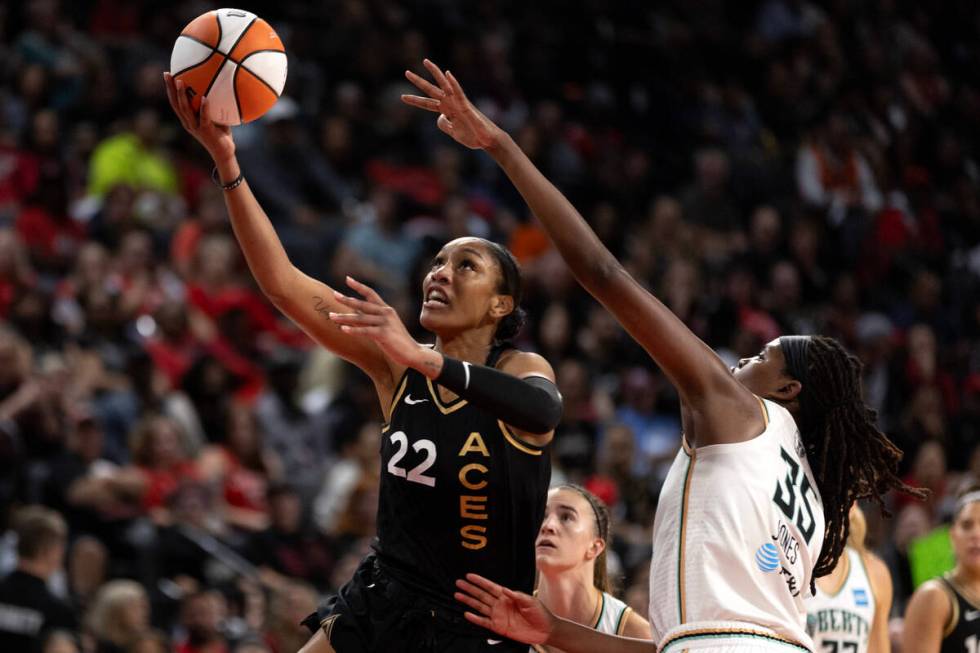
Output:
[[799,429],[759,400],[765,430],[690,449],[664,481],[653,525],[650,626],[661,651],[813,650],[804,598],[823,545],[823,503]]

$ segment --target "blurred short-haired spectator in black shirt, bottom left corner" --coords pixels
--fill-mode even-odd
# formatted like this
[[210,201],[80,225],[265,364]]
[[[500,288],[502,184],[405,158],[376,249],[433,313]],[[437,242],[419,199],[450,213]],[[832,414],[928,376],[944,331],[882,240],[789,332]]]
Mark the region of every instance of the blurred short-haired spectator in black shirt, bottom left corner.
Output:
[[17,513],[14,532],[17,569],[0,580],[0,649],[40,652],[48,631],[78,624],[71,606],[47,587],[63,571],[68,526],[58,513],[28,506]]

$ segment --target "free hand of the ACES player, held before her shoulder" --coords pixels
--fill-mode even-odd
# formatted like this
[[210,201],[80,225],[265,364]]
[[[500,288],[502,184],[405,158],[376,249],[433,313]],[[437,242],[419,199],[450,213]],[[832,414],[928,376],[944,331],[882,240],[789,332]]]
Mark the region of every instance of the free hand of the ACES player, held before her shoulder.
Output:
[[354,312],[330,313],[330,320],[339,325],[344,333],[374,340],[384,355],[398,365],[415,367],[421,347],[405,328],[395,309],[388,306],[370,286],[352,277],[347,277],[347,285],[364,299],[334,291],[334,298]]

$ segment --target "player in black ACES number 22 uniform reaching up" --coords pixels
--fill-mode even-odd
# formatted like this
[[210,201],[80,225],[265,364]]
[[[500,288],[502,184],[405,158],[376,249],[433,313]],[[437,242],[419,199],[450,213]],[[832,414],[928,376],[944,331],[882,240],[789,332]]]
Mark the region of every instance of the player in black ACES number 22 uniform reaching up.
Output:
[[348,297],[289,261],[249,190],[228,127],[195,112],[165,75],[184,128],[214,159],[235,237],[259,287],[319,344],[373,381],[381,433],[378,535],[354,578],[306,623],[304,653],[520,651],[462,616],[454,581],[470,569],[531,591],[534,538],[551,476],[547,444],[561,417],[551,366],[510,344],[521,275],[496,243],[447,243],[423,283],[416,342],[393,308],[348,277]]

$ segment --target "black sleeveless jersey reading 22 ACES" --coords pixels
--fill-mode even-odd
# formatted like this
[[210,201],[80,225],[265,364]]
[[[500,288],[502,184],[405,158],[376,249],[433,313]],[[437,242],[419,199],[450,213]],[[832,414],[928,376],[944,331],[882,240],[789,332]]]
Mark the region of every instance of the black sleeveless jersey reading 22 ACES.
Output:
[[[491,361],[492,364],[492,361]],[[468,572],[530,592],[551,461],[486,411],[409,368],[381,432],[381,564],[451,609]]]

